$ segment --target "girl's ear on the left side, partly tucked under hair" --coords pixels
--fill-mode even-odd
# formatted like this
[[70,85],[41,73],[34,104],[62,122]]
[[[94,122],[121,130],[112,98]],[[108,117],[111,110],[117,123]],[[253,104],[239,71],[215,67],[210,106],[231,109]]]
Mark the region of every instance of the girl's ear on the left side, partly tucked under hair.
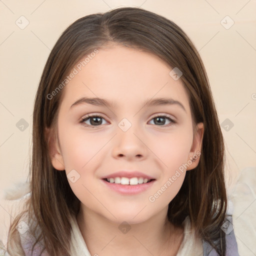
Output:
[[45,138],[48,145],[51,164],[57,170],[64,170],[64,160],[56,136],[51,128],[45,128]]

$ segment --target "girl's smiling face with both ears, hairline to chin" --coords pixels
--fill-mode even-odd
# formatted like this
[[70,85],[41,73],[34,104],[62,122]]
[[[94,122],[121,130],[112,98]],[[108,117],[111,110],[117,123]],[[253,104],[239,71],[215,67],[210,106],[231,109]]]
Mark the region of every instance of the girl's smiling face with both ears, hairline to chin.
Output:
[[[193,137],[181,79],[154,54],[121,45],[81,63],[63,88],[53,166],[65,170],[82,210],[129,223],[166,214],[186,170],[198,163],[203,134],[200,123]],[[146,177],[152,180],[118,184]]]

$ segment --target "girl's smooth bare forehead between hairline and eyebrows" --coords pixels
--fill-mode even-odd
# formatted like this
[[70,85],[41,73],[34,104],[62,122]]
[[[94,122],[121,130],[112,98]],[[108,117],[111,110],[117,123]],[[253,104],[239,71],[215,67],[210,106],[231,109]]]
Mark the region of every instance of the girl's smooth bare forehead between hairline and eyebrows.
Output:
[[158,56],[120,45],[99,48],[84,61],[86,56],[73,67],[76,74],[64,88],[69,107],[82,96],[105,98],[115,107],[169,97],[189,109],[181,79],[174,80],[172,67]]

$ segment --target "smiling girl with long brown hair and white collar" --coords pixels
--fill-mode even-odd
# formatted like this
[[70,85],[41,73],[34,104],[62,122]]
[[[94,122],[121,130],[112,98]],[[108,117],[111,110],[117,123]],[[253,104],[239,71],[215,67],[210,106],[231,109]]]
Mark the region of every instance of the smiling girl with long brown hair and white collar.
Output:
[[238,255],[207,75],[172,21],[122,7],[67,27],[32,141],[10,255]]

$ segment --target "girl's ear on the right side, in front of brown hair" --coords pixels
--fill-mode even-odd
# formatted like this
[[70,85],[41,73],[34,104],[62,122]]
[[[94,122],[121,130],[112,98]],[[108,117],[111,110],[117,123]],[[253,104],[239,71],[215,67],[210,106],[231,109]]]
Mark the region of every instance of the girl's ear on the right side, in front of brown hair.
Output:
[[187,157],[187,162],[188,163],[191,162],[191,164],[189,164],[186,170],[194,169],[198,165],[200,155],[201,155],[203,132],[204,132],[203,123],[202,122],[197,123],[196,131],[193,137],[193,142],[189,151],[189,155]]

